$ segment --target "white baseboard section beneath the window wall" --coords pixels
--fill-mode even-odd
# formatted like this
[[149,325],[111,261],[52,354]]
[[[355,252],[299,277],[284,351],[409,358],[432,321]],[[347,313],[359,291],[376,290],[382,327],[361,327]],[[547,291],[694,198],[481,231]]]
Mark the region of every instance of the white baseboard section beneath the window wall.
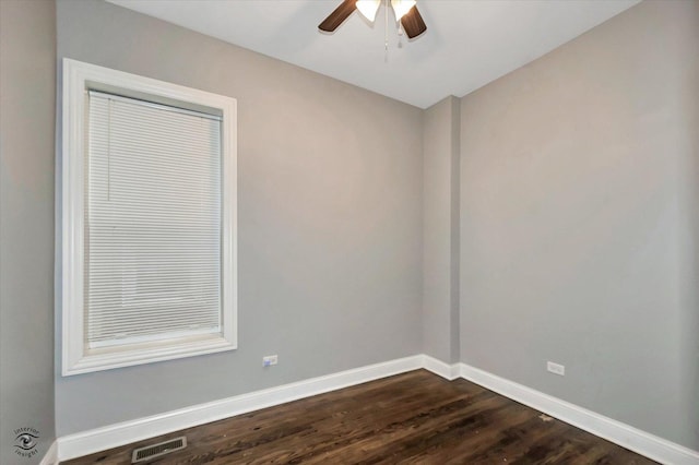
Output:
[[64,436],[58,439],[58,456],[61,461],[67,461],[93,454],[180,429],[416,370],[422,368],[423,363],[423,357],[419,355],[401,358]]

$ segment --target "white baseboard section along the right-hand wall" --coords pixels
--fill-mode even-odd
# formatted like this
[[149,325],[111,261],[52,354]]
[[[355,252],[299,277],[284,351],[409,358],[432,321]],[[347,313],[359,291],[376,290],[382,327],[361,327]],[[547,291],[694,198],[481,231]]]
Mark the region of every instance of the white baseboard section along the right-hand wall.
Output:
[[461,377],[663,464],[698,465],[699,452],[465,363]]

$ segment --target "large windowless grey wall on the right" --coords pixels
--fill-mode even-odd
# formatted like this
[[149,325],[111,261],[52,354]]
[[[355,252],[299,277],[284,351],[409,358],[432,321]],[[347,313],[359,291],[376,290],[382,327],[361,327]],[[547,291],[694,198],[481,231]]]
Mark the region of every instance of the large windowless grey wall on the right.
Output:
[[461,107],[462,360],[694,450],[698,57],[647,1]]

